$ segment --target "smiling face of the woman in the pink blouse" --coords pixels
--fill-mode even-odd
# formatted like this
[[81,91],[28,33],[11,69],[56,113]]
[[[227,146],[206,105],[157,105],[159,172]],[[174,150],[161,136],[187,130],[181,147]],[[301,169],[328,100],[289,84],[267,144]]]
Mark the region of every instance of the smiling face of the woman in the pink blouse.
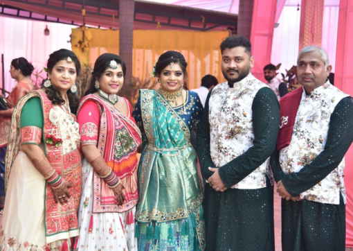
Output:
[[98,80],[99,87],[106,94],[118,94],[124,84],[124,73],[121,64],[116,65],[116,69],[107,67]]

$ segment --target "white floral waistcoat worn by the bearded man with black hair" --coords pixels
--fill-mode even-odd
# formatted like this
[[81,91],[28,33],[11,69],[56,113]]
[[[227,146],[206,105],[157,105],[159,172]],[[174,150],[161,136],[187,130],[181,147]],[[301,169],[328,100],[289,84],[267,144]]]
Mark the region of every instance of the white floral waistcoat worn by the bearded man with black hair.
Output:
[[[228,82],[217,85],[209,100],[210,155],[215,166],[224,166],[253,146],[253,99],[267,85],[249,75],[230,88]],[[235,189],[260,189],[266,187],[266,173],[271,182],[269,158],[233,185]]]

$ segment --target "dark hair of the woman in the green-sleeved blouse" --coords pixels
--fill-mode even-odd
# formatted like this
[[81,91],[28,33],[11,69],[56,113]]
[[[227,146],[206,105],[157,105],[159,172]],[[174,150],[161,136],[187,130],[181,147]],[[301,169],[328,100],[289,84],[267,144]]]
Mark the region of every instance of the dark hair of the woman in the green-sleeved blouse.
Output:
[[[57,62],[59,62],[60,60],[66,60],[68,57],[70,57],[75,63],[77,78],[80,74],[81,69],[80,61],[78,61],[78,57],[76,57],[75,53],[66,49],[60,49],[59,51],[54,51],[53,53],[51,53],[51,55],[49,55],[48,63],[46,64],[46,69],[49,73],[51,73],[51,71],[53,71],[53,67],[55,66],[55,64],[57,64]],[[65,101],[64,98],[62,98],[62,94],[57,89],[55,89],[53,85],[48,88],[44,87],[44,82],[47,79],[48,78],[43,80],[42,88],[45,89],[46,95],[48,96],[49,100],[53,105],[64,105]],[[78,96],[75,93],[72,93],[70,89],[66,92],[66,94],[69,99],[70,110],[73,114],[76,114],[79,102]]]

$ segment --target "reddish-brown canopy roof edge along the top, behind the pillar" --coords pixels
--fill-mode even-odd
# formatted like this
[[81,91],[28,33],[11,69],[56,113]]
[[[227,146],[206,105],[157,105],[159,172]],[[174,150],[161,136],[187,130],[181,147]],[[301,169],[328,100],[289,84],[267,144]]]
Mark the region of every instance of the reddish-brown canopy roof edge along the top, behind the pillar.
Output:
[[[0,15],[82,25],[83,0],[3,0]],[[86,0],[87,26],[119,28],[116,0]],[[237,15],[163,3],[135,1],[134,29],[236,31]]]

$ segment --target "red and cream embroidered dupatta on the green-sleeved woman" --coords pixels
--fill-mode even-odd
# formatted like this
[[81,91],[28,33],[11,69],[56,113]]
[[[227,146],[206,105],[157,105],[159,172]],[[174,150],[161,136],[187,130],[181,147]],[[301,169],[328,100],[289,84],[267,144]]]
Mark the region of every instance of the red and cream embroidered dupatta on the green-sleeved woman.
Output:
[[[26,102],[33,97],[39,97],[42,103],[42,109],[44,114],[42,142],[44,144],[46,157],[48,158],[48,161],[51,163],[53,168],[55,168],[57,173],[59,173],[64,180],[72,182],[73,184],[73,187],[69,189],[71,193],[71,198],[69,198],[68,202],[61,204],[55,203],[53,191],[51,187],[48,186],[48,184],[46,183],[44,198],[44,223],[46,228],[46,242],[51,243],[53,241],[68,239],[70,237],[78,235],[77,214],[82,187],[82,157],[80,154],[80,149],[78,147],[73,148],[73,150],[70,150],[69,152],[66,152],[62,145],[55,146],[54,144],[46,143],[44,139],[46,139],[48,135],[54,132],[55,137],[62,139],[64,142],[69,141],[69,144],[78,144],[78,142],[72,141],[71,137],[62,137],[64,132],[61,132],[60,126],[58,126],[58,123],[62,122],[62,117],[57,120],[57,123],[53,123],[53,121],[49,119],[49,114],[51,113],[51,111],[55,110],[55,107],[47,98],[44,90],[39,89],[35,92],[30,92],[26,96],[23,96],[19,99],[12,113],[10,135],[8,137],[9,141],[6,153],[5,187],[7,188],[8,186],[8,180],[10,178],[12,164],[15,162],[15,158],[19,153],[19,146],[21,140],[21,110],[22,107],[24,107],[24,105],[26,104]],[[67,115],[72,116],[74,121],[77,123],[76,118],[73,114]],[[67,119],[67,117],[65,117],[65,119]]]

